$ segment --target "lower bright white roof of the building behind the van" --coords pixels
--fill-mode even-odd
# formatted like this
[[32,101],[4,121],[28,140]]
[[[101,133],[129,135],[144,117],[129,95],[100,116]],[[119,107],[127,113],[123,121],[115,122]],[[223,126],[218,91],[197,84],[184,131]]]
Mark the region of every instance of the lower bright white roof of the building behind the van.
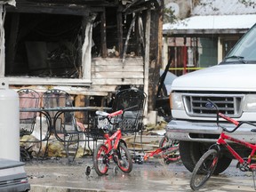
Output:
[[256,14],[192,16],[163,25],[164,36],[244,34],[255,24]]

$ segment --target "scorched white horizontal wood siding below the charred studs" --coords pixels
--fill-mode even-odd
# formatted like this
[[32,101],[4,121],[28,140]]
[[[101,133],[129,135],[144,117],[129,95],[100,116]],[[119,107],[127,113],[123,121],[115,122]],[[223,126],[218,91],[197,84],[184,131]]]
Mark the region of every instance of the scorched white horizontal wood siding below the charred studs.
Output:
[[[108,92],[114,92],[117,85],[129,84],[144,84],[142,58],[126,58],[124,63],[118,58],[92,59],[92,89],[98,89],[106,85],[111,89],[108,89]],[[105,89],[103,90],[105,91]]]

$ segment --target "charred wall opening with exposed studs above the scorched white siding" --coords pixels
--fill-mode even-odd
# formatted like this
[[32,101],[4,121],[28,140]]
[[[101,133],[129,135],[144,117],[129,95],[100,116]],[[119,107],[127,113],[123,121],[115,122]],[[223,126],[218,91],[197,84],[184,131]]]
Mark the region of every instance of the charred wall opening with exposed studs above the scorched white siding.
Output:
[[[104,13],[106,20],[102,20]],[[141,16],[140,13],[125,14],[113,7],[106,8],[106,12],[99,12],[92,28],[92,57],[104,57],[103,30],[106,30],[107,57],[122,57],[124,51],[126,56],[141,56],[143,49],[141,39],[144,40]],[[102,22],[106,22],[105,28],[102,28]]]

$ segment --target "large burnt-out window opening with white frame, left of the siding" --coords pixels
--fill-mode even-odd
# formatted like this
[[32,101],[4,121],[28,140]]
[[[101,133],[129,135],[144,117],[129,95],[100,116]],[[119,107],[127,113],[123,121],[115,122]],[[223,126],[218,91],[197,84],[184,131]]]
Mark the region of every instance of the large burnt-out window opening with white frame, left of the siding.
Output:
[[77,78],[81,16],[7,12],[5,76]]

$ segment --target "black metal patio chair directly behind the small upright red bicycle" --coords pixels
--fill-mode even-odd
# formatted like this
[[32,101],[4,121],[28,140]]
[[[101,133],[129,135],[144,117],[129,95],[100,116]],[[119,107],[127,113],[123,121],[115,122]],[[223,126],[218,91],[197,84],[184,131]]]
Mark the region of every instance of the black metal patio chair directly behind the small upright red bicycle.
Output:
[[[119,122],[118,125],[111,125],[108,122],[100,121],[98,116],[92,116],[92,125],[87,131],[88,138],[91,138],[96,145],[98,140],[104,140],[102,130],[100,127],[108,124],[108,126],[112,126],[112,130],[115,131],[116,128],[121,128],[122,133],[134,133],[134,142],[136,140],[136,133],[143,131],[143,116],[144,116],[144,107],[146,102],[147,95],[145,92],[140,91],[137,88],[130,88],[119,91],[116,93],[114,98],[114,102],[112,105],[111,111],[114,112],[116,110],[123,109],[124,115],[122,119],[120,116],[117,116],[113,121]],[[106,121],[106,120],[104,120]],[[118,127],[116,127],[118,126]],[[88,139],[89,140],[89,139]]]

